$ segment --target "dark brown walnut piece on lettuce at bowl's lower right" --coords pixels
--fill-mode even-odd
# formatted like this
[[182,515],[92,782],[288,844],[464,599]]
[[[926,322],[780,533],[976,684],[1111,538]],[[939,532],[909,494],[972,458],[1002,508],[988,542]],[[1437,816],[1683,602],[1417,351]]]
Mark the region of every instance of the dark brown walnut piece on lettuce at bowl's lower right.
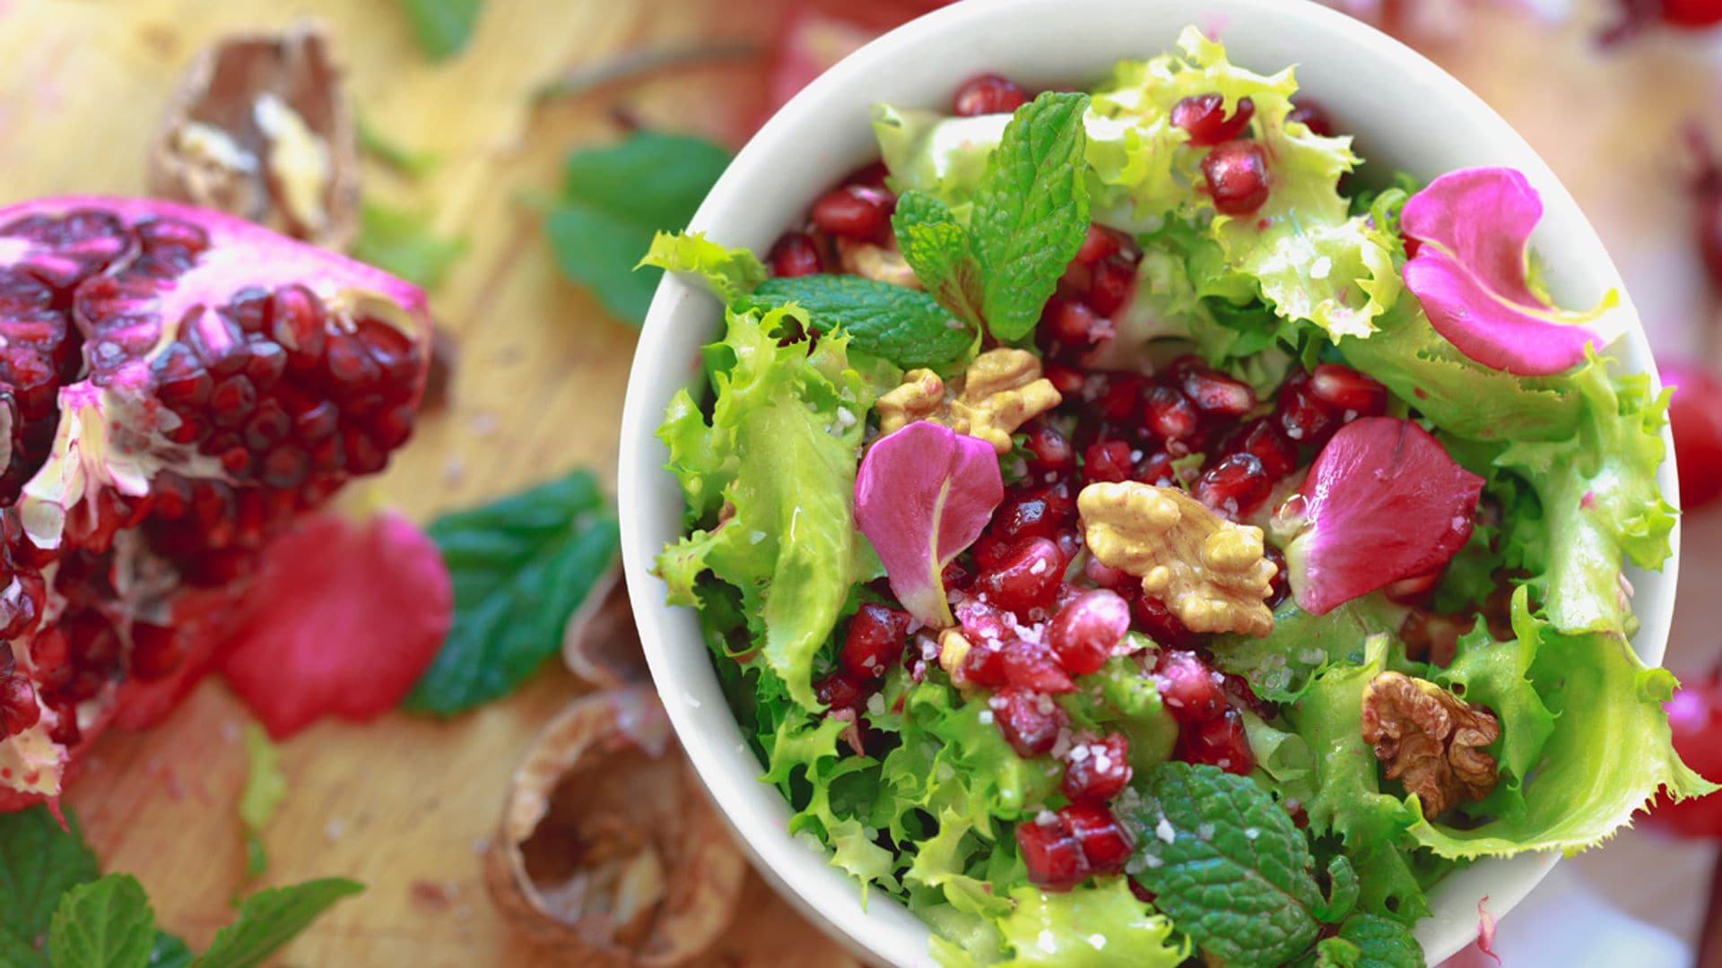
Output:
[[1362,715],[1364,742],[1376,748],[1390,780],[1417,794],[1424,816],[1495,789],[1495,758],[1483,749],[1502,729],[1488,708],[1426,679],[1383,672],[1364,689]]

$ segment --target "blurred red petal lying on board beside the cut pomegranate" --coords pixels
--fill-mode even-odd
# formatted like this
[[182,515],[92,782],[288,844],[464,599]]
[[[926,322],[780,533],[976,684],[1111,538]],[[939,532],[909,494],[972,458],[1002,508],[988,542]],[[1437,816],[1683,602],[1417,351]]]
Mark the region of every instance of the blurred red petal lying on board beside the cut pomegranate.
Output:
[[222,673],[277,741],[325,715],[365,722],[412,691],[453,617],[443,556],[410,520],[313,515],[265,549]]

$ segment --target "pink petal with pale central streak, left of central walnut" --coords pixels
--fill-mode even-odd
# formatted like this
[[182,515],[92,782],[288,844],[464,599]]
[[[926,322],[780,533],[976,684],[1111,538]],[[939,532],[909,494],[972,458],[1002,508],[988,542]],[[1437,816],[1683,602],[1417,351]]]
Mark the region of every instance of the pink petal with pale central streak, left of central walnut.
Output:
[[1004,500],[992,444],[918,420],[880,437],[856,474],[856,527],[890,591],[925,625],[952,625],[944,567],[980,537]]

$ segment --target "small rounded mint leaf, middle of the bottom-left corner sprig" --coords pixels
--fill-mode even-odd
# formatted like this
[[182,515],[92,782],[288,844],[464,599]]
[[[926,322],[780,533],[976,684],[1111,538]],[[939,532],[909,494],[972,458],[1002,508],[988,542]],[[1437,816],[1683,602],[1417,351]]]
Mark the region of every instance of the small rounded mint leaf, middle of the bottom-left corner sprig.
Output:
[[60,896],[48,927],[53,968],[145,968],[155,909],[129,873],[110,873]]

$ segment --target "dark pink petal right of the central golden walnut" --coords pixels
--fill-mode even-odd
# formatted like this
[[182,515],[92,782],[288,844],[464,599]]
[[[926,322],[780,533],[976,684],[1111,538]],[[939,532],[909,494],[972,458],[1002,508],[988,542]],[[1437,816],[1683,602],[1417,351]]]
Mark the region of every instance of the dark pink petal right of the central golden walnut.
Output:
[[1298,608],[1335,606],[1440,570],[1471,539],[1483,479],[1428,431],[1366,417],[1328,441],[1297,494],[1276,512],[1302,531],[1286,546]]

